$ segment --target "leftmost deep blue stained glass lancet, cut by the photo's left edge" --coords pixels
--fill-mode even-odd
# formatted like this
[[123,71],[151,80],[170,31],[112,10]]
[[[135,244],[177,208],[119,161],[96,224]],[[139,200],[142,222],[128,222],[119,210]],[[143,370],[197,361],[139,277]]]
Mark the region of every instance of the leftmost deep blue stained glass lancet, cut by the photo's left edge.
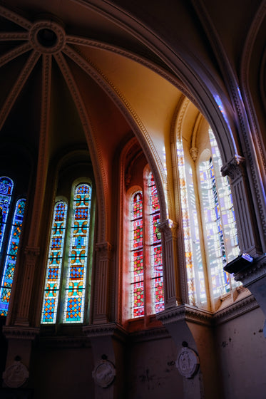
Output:
[[13,186],[14,184],[9,177],[0,177],[0,251],[3,244]]

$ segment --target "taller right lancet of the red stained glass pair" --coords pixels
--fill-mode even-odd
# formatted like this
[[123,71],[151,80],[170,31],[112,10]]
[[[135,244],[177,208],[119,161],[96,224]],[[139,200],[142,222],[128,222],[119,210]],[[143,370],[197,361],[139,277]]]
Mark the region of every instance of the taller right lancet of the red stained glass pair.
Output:
[[163,299],[163,257],[162,242],[159,230],[160,204],[153,174],[148,177],[148,191],[150,202],[150,261],[152,268],[153,307],[155,313],[164,310]]

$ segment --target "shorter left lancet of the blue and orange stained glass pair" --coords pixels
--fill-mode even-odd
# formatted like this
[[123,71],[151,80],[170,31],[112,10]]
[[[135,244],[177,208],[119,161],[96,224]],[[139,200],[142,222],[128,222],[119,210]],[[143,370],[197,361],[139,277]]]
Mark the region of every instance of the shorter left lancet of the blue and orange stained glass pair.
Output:
[[56,323],[66,232],[66,214],[66,202],[56,202],[53,211],[41,323]]

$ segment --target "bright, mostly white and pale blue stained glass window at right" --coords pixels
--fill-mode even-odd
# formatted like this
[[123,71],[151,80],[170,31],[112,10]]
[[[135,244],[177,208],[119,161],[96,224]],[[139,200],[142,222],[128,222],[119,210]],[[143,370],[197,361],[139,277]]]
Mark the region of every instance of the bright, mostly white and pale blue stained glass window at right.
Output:
[[227,177],[220,173],[221,159],[215,136],[209,130],[212,157],[200,163],[200,188],[203,200],[205,233],[208,243],[213,296],[218,297],[237,285],[223,266],[238,256],[235,214]]

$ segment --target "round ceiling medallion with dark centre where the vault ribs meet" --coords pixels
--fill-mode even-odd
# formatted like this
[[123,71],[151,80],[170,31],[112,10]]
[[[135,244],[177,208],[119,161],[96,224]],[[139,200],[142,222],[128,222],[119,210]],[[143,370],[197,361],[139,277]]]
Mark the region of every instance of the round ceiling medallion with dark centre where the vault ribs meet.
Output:
[[54,54],[65,46],[66,33],[57,22],[37,21],[29,31],[29,40],[40,53]]

